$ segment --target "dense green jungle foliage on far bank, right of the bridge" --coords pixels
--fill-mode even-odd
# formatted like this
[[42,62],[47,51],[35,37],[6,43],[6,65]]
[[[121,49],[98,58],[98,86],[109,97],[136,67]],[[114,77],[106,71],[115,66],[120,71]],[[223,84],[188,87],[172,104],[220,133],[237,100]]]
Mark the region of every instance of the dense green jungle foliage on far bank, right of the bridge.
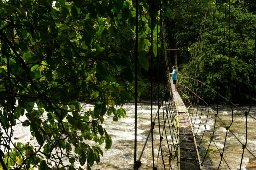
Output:
[[[181,49],[181,74],[204,82],[231,101],[248,101],[256,91],[255,86],[252,90],[255,81],[256,16],[249,11],[251,8],[244,5],[247,1],[210,1],[209,4],[203,1],[178,2],[173,16],[182,18],[184,22],[180,23],[175,18],[173,22],[181,29],[170,31],[169,34],[173,35],[172,41]],[[178,16],[179,12],[176,14],[176,11],[181,11],[183,15]],[[205,24],[202,26],[203,22]],[[190,56],[192,62],[186,65]],[[222,100],[216,97],[212,89],[204,86],[197,91],[202,91],[205,100]],[[256,100],[255,96],[253,100]]]

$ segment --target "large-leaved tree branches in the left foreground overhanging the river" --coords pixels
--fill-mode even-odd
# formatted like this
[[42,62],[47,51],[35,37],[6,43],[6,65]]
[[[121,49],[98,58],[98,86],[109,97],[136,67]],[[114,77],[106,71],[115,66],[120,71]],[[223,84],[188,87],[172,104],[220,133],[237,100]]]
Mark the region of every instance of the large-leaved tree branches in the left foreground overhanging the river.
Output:
[[[162,5],[171,18],[168,1]],[[151,1],[139,2],[139,70],[149,68],[151,28],[157,38],[159,14],[153,8],[151,17],[151,10]],[[133,0],[0,1],[0,169],[90,169],[100,162],[100,145],[112,144],[104,119],[124,118],[115,106],[134,99],[135,23]],[[154,41],[155,55],[158,46]],[[138,85],[140,97],[147,89]],[[13,141],[19,124],[37,145]]]

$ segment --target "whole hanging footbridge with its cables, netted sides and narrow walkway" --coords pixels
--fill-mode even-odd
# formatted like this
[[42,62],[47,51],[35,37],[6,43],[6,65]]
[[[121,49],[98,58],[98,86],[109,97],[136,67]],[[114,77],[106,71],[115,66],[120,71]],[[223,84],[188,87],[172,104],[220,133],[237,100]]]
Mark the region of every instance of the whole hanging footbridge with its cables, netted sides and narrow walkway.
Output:
[[[228,3],[226,3],[225,6],[222,6],[222,8],[225,8],[225,25],[226,18],[229,18],[227,19],[227,22],[230,21],[230,15],[226,15],[226,11],[228,9],[227,5]],[[213,52],[203,50],[204,39],[206,38],[205,34],[212,34],[212,32],[209,31],[210,29],[208,29],[206,32],[206,24],[212,24],[208,27],[217,27],[218,29],[218,17],[216,15],[217,7],[220,9],[221,4],[218,6],[218,4],[213,5],[213,2],[209,2],[207,9],[209,11],[206,11],[205,18],[195,45],[195,51],[191,56],[189,64],[182,69],[182,74],[178,75],[177,91],[174,91],[174,85],[172,84],[169,76],[169,73],[171,72],[169,66],[177,66],[177,55],[176,63],[170,63],[170,61],[168,61],[170,57],[168,55],[168,51],[170,50],[164,49],[163,44],[166,42],[166,35],[164,26],[162,24],[163,22],[160,10],[161,35],[157,35],[161,40],[161,50],[158,51],[157,55],[158,82],[160,82],[160,80],[165,80],[167,83],[165,82],[161,84],[161,86],[159,83],[158,85],[158,90],[160,87],[162,89],[161,91],[158,91],[158,94],[161,94],[162,99],[158,97],[158,110],[151,110],[150,130],[142,151],[137,150],[137,101],[135,100],[135,153],[133,167],[135,170],[140,169],[141,166],[143,167],[140,160],[143,157],[143,152],[147,147],[147,142],[150,138],[152,143],[152,165],[149,167],[153,170],[232,170],[256,168],[256,146],[252,142],[255,140],[255,134],[248,133],[249,128],[250,130],[253,129],[253,123],[255,123],[256,120],[254,115],[255,113],[253,113],[251,110],[252,98],[254,96],[253,87],[255,83],[255,46],[252,76],[253,80],[250,96],[251,102],[249,108],[245,109],[238,107],[236,104],[232,103],[232,101],[223,97],[223,95],[218,93],[217,90],[213,89],[211,85],[208,85],[206,83],[207,78],[205,79],[201,75],[202,72],[208,72],[210,67],[206,54],[209,55],[213,53],[212,56],[214,57],[214,62],[215,58],[217,58],[215,49],[217,46],[217,41],[215,48],[212,47]],[[214,25],[216,24],[215,22],[206,23],[207,17],[209,17],[210,20],[212,19],[213,21],[216,21],[217,26]],[[228,31],[226,32],[224,29],[224,37],[228,35],[230,36],[230,31],[228,33]],[[218,36],[222,35],[216,36],[218,38]],[[151,37],[153,37],[153,33]],[[222,58],[222,68],[223,65],[226,64],[229,65],[229,69],[231,70],[230,42],[226,44],[224,42],[223,47],[224,46],[227,46],[229,49],[229,54],[226,54],[229,56],[229,63],[225,63]],[[137,72],[135,71],[135,76],[136,74]],[[220,74],[222,79],[224,73],[221,72]],[[220,105],[218,102],[216,105],[211,105],[210,101],[206,101],[204,99],[204,93],[207,91],[211,91],[212,96],[217,101],[224,101],[226,105]],[[135,96],[135,99],[137,99],[137,96]],[[151,100],[151,109],[152,108]],[[236,110],[236,112],[234,112],[234,110]],[[156,112],[156,114],[154,115],[153,112]],[[156,122],[157,119],[158,123]],[[209,123],[209,121],[211,122]],[[236,126],[238,126],[238,124],[242,126],[242,129],[237,129]],[[154,153],[153,144],[153,130],[156,126],[158,126],[159,131],[159,148],[157,154]],[[232,152],[236,152],[236,156],[234,156]],[[166,155],[168,155],[168,158],[166,155],[164,155],[165,153],[167,153]],[[138,159],[137,155],[139,155]],[[159,162],[161,162],[161,164]]]

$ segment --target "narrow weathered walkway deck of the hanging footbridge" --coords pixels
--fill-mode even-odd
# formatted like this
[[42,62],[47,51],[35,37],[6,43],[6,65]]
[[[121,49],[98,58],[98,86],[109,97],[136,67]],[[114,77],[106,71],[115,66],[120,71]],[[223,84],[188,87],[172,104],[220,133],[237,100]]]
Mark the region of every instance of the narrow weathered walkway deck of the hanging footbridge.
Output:
[[190,121],[191,119],[188,114],[188,110],[179,93],[174,91],[175,87],[172,81],[171,88],[178,120],[178,169],[202,169],[194,129]]

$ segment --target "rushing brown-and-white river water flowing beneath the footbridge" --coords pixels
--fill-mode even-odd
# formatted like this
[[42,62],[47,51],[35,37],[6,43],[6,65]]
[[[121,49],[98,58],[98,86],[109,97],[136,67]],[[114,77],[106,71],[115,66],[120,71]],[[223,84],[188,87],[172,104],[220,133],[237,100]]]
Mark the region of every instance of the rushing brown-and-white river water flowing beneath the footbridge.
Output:
[[[165,108],[164,104],[164,108]],[[87,108],[93,108],[92,105],[88,105]],[[96,163],[93,165],[93,170],[132,170],[133,163],[134,163],[134,103],[126,104],[123,106],[126,109],[126,118],[121,118],[117,122],[112,120],[110,116],[109,119],[106,118],[103,124],[103,127],[107,130],[108,134],[110,134],[112,138],[112,147],[109,150],[104,149],[104,145],[102,145],[102,150],[104,152],[104,156],[101,157],[101,162],[97,165]],[[192,118],[192,124],[194,124],[194,132],[196,134],[197,144],[199,145],[202,135],[204,137],[202,142],[200,143],[200,153],[205,153],[207,150],[210,138],[213,134],[214,136],[213,141],[209,147],[209,157],[212,160],[212,164],[209,159],[205,159],[203,163],[203,169],[212,169],[215,170],[218,168],[221,157],[220,153],[222,153],[222,149],[224,147],[224,141],[226,136],[226,126],[229,126],[232,122],[232,111],[230,106],[218,106],[218,117],[215,124],[215,114],[217,113],[217,105],[210,106],[211,109],[209,110],[208,114],[208,107],[200,106],[197,109],[198,115],[196,116],[196,111],[190,112],[190,117]],[[226,143],[225,143],[225,150],[223,153],[223,158],[220,168],[219,169],[231,169],[236,170],[240,168],[241,156],[242,156],[242,144],[245,144],[246,141],[246,125],[245,125],[245,115],[244,111],[248,111],[248,105],[240,106],[238,105],[243,111],[238,108],[233,108],[233,123],[228,130]],[[163,132],[163,107],[160,108],[160,132]],[[153,117],[157,115],[158,105],[157,103],[153,104]],[[137,119],[137,160],[139,159],[142,148],[150,131],[150,115],[151,115],[151,104],[148,102],[139,103],[137,107],[138,119]],[[202,111],[203,110],[203,111]],[[166,111],[164,111],[166,116]],[[169,113],[171,111],[169,110]],[[201,115],[202,114],[202,115]],[[208,114],[208,117],[207,117]],[[256,106],[254,105],[251,108],[250,115],[256,117]],[[200,123],[200,119],[207,123],[206,126]],[[171,118],[168,117],[171,124]],[[221,121],[221,120],[222,121]],[[172,119],[173,120],[173,119]],[[167,120],[166,120],[167,121]],[[157,166],[158,170],[164,169],[164,164],[162,161],[161,151],[159,151],[159,144],[160,144],[160,135],[159,135],[159,126],[158,126],[158,116],[156,116],[156,124],[153,129],[154,135],[154,164]],[[256,170],[256,120],[250,116],[247,116],[247,145],[244,156],[243,156],[243,163],[241,169],[243,170]],[[175,119],[173,120],[175,123]],[[215,125],[215,128],[214,128]],[[206,130],[205,130],[206,127]],[[175,127],[172,126],[169,128],[168,121],[165,124],[166,128],[166,135],[164,133],[164,138],[162,141],[162,153],[163,153],[163,160],[165,162],[165,168],[169,169],[169,155],[168,153],[171,152],[173,155],[174,147],[173,144],[176,144],[175,140]],[[14,129],[14,136],[19,138],[19,140],[14,141],[21,141],[23,143],[30,141],[31,144],[36,144],[35,138],[31,138],[29,127],[22,127],[18,129]],[[170,133],[171,131],[171,133]],[[205,133],[204,133],[205,131]],[[232,132],[232,133],[231,133]],[[174,138],[172,143],[171,138]],[[167,139],[168,143],[167,144]],[[242,144],[241,144],[241,143]],[[91,143],[92,144],[92,143]],[[169,146],[169,148],[168,148]],[[170,151],[169,151],[170,150]],[[220,151],[220,153],[218,152]],[[249,153],[251,152],[251,153]],[[215,155],[214,155],[215,154]],[[253,156],[254,155],[254,156]],[[158,158],[158,159],[157,159]],[[151,135],[149,136],[149,140],[145,147],[145,150],[141,156],[142,166],[140,170],[146,169],[153,169],[153,158],[152,158],[152,143],[151,143]],[[226,162],[226,163],[225,163]],[[66,161],[68,164],[68,161]],[[177,159],[171,160],[172,169],[177,169]]]

